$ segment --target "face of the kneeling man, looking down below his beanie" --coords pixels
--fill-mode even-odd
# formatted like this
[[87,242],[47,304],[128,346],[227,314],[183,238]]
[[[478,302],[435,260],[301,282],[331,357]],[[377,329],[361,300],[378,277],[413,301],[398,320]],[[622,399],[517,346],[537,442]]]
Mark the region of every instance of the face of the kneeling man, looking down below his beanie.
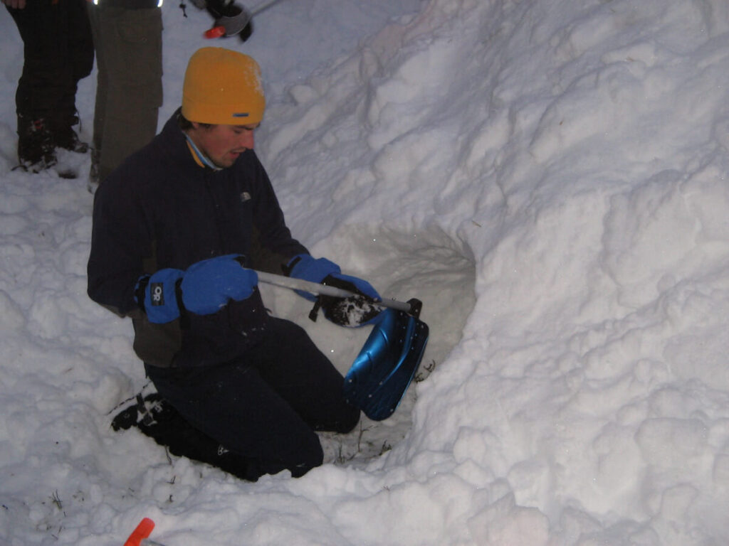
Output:
[[187,134],[208,159],[218,167],[225,168],[233,165],[235,159],[238,159],[244,151],[253,149],[253,130],[258,125],[205,127],[192,122],[192,129],[188,130]]

